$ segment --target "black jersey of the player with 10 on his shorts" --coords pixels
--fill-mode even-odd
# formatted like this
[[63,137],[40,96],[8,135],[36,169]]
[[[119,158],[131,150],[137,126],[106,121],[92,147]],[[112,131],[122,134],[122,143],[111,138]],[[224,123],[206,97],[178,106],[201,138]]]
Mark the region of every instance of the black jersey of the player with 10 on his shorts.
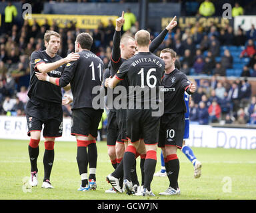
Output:
[[184,92],[189,87],[187,76],[175,69],[163,76],[161,92],[164,93],[165,111],[164,114],[186,112],[187,108],[184,101]]

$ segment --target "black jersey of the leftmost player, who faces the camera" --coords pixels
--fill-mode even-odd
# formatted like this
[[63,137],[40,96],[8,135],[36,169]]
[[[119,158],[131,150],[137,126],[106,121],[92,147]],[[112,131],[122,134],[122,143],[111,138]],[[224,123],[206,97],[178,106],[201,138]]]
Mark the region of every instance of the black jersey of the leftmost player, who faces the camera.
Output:
[[[35,71],[37,70],[37,65],[41,63],[53,63],[55,61],[59,61],[62,59],[59,55],[55,55],[55,57],[50,57],[45,51],[34,51],[31,54],[31,61],[30,61],[30,82],[29,82],[29,91],[28,96],[30,99],[33,97],[42,100],[42,101],[49,101],[51,103],[57,103],[61,105],[61,88],[53,85],[47,81],[40,81],[35,76]],[[47,73],[50,77],[61,77],[63,73],[65,65],[62,65]]]

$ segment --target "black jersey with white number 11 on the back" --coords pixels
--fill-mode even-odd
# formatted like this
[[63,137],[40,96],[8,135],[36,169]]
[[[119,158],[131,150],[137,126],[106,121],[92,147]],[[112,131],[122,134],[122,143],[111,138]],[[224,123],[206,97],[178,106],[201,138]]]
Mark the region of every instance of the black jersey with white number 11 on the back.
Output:
[[93,108],[93,87],[101,86],[103,79],[103,61],[91,51],[79,52],[80,58],[77,61],[67,63],[59,86],[65,87],[71,84],[73,94],[73,108]]

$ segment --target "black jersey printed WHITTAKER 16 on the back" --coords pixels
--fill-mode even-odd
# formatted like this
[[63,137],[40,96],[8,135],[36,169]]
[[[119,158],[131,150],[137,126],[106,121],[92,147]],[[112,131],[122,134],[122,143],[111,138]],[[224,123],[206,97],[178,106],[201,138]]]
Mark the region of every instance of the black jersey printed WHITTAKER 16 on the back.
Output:
[[[164,70],[165,63],[159,57],[150,52],[138,53],[121,65],[115,77],[122,81],[127,80],[129,101],[138,101],[136,90],[140,87],[145,89],[145,91],[141,91],[141,103],[149,103],[159,101],[158,89]],[[156,89],[155,97],[151,95],[151,89]]]

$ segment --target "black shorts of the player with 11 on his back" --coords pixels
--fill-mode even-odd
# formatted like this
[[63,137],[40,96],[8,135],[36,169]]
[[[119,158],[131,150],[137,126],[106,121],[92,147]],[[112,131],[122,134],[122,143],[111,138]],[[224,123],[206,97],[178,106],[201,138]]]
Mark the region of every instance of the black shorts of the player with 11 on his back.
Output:
[[71,135],[93,136],[97,138],[99,122],[103,110],[94,108],[73,108]]

